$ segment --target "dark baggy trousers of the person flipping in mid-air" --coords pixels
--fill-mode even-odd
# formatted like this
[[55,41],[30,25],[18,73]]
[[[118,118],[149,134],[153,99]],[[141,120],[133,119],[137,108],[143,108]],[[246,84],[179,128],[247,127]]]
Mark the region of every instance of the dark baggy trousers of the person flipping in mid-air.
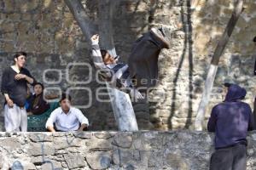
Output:
[[152,87],[158,79],[158,57],[163,42],[150,31],[137,39],[128,59],[129,71],[137,87]]

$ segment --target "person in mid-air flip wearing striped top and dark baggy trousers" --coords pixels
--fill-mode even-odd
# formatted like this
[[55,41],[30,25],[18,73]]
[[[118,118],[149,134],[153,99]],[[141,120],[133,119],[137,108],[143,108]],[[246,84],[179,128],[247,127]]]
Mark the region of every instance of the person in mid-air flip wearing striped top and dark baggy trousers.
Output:
[[[100,49],[99,36],[90,38],[92,58],[96,69],[114,88],[119,88],[136,99],[143,99],[136,88],[153,87],[158,78],[158,58],[162,48],[169,48],[161,29],[152,28],[133,44],[128,65],[119,63],[107,50]],[[132,81],[135,80],[135,81]],[[134,83],[135,82],[135,83]]]

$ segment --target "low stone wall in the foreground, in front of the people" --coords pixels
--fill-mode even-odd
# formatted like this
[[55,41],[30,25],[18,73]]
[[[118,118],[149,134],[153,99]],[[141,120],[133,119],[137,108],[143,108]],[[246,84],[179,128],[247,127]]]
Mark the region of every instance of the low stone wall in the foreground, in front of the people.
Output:
[[[0,133],[0,168],[207,170],[212,134],[177,132]],[[256,133],[247,169],[256,168]],[[16,168],[18,169],[18,168]],[[21,168],[20,168],[21,169]]]

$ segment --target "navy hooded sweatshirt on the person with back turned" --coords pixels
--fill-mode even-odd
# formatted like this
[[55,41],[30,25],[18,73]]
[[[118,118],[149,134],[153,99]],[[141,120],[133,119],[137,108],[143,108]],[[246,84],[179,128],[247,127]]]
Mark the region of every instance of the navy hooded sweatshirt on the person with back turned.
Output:
[[247,145],[247,131],[253,130],[253,114],[250,106],[241,101],[247,92],[232,84],[224,102],[212,108],[207,129],[215,132],[215,148],[236,144]]

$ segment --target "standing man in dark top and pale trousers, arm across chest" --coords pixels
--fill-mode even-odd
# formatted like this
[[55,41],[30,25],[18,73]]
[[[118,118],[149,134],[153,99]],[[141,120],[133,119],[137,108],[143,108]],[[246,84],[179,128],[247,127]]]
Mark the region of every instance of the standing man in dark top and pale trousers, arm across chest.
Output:
[[27,83],[35,80],[26,70],[26,53],[18,52],[14,56],[15,65],[3,71],[1,92],[5,98],[4,127],[6,132],[26,132],[26,96]]

